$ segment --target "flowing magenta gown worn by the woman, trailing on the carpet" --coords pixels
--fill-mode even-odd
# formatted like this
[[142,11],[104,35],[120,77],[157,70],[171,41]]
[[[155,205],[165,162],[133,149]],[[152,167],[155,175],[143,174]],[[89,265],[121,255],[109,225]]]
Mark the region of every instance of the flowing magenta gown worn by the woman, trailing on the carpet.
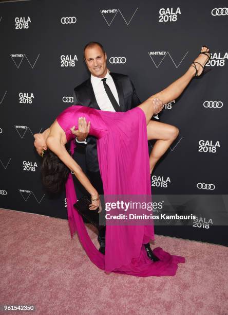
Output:
[[[76,147],[70,128],[78,128],[79,117],[91,122],[90,135],[98,138],[98,161],[104,195],[151,195],[146,118],[141,108],[125,113],[99,111],[85,106],[66,108],[57,118],[71,141],[71,154]],[[154,240],[154,225],[106,225],[105,255],[91,241],[82,217],[75,211],[77,201],[72,174],[66,182],[66,198],[71,237],[77,231],[88,257],[98,268],[134,276],[173,276],[178,263],[185,258],[157,247],[153,253],[160,258],[147,257],[143,244]]]

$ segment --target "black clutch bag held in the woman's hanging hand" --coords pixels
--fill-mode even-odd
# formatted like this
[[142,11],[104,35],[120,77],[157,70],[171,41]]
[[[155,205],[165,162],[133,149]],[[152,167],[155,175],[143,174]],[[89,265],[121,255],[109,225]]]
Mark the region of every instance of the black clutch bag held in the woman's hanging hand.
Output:
[[78,213],[85,218],[89,223],[96,226],[98,230],[104,228],[103,225],[99,225],[99,209],[90,210],[89,205],[91,204],[91,199],[88,196],[83,196],[76,203],[74,203],[74,208]]

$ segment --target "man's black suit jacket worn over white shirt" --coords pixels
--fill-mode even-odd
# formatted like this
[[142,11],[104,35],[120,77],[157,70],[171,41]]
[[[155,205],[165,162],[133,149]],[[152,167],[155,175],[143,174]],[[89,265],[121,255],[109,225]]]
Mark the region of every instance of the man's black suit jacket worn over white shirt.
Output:
[[[120,107],[123,112],[126,112],[141,103],[136,94],[135,87],[127,75],[110,72],[110,76],[116,85]],[[73,104],[101,110],[94,95],[90,78],[74,88]],[[90,172],[99,171],[97,139],[93,136],[87,137],[86,167]]]

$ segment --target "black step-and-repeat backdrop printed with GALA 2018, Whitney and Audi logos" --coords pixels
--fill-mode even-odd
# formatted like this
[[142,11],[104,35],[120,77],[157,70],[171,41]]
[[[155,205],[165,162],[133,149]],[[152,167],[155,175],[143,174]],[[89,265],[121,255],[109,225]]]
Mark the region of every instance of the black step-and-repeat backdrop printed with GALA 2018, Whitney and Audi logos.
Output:
[[[180,133],[154,170],[151,192],[212,197],[211,206],[186,204],[196,215],[192,224],[169,220],[156,234],[227,245],[226,225],[218,224],[228,214],[221,196],[228,184],[227,27],[225,1],[0,3],[0,207],[67,218],[65,191],[49,196],[42,187],[33,134],[73,104],[74,87],[89,77],[89,41],[103,44],[109,70],[129,75],[141,101],[184,74],[206,45],[212,71],[153,118]],[[85,168],[83,149],[77,156]]]

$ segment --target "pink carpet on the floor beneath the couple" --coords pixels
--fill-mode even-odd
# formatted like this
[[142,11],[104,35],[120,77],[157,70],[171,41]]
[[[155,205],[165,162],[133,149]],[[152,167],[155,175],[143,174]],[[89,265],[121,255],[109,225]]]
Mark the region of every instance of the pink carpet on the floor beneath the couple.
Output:
[[0,222],[0,305],[36,307],[6,314],[228,314],[226,247],[156,235],[152,248],[186,258],[176,276],[106,275],[67,220],[0,209]]

